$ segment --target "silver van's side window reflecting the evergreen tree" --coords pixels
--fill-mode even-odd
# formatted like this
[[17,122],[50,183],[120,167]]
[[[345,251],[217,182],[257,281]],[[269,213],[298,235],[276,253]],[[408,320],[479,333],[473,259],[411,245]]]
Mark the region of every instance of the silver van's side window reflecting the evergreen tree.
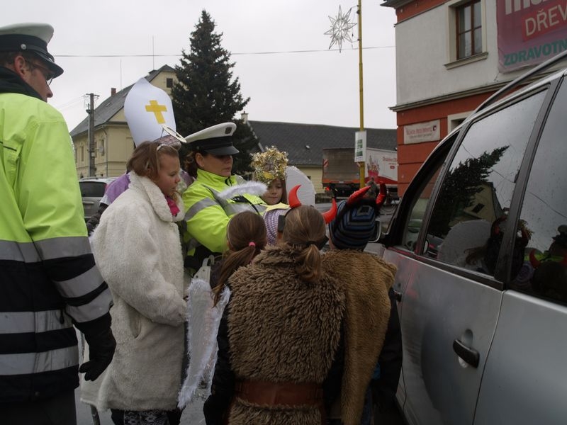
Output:
[[[493,276],[515,180],[545,91],[473,123],[444,176],[426,256]],[[522,252],[517,267],[522,265]]]

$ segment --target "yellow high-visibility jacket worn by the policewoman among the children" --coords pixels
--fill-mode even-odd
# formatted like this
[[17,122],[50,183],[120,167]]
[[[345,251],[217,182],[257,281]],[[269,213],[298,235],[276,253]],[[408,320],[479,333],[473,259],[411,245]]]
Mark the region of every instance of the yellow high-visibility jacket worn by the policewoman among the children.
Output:
[[184,242],[188,246],[188,255],[192,255],[198,245],[211,252],[225,251],[230,217],[242,211],[264,213],[266,205],[259,196],[245,195],[229,200],[218,196],[226,188],[244,182],[238,179],[240,177],[223,177],[198,169],[196,181],[183,194],[186,210]]

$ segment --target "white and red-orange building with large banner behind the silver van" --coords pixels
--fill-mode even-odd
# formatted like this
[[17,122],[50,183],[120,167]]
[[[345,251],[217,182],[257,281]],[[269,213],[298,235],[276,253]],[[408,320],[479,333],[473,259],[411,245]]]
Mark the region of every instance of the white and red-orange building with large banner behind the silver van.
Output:
[[491,94],[567,50],[558,0],[387,0],[395,9],[398,191]]

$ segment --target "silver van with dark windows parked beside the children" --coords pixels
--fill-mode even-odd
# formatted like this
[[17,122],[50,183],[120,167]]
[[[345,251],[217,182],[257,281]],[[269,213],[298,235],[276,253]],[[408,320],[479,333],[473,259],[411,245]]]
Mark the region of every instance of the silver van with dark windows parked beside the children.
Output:
[[380,239],[398,266],[396,397],[408,424],[567,423],[567,68],[549,71],[559,56],[434,149]]

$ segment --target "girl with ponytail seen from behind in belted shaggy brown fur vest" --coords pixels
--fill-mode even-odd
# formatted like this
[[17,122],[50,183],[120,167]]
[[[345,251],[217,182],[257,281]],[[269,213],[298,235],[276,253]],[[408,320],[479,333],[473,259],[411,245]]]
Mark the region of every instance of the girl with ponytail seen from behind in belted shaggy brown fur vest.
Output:
[[228,279],[206,424],[322,424],[344,311],[339,283],[322,273],[324,240],[321,213],[292,208],[279,244]]

